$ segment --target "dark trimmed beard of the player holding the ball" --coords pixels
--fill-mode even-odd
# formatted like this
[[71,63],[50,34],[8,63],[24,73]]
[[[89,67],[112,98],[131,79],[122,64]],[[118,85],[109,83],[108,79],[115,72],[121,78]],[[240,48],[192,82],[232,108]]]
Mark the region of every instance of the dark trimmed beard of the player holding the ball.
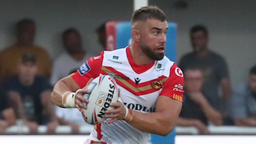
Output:
[[152,50],[148,46],[140,46],[141,50],[144,54],[146,54],[149,58],[152,60],[161,60],[164,58],[164,53],[155,53],[154,50]]

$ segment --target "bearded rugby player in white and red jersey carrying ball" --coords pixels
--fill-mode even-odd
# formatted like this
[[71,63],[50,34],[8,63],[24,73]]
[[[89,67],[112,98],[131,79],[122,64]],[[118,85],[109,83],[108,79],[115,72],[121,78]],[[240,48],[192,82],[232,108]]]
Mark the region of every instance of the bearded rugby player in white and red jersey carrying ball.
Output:
[[[77,72],[56,83],[52,101],[77,107],[89,101],[86,86],[100,74],[117,82],[123,101],[111,103],[103,123],[94,126],[84,144],[146,144],[149,133],[166,136],[174,128],[182,107],[183,73],[165,54],[167,18],[156,6],[142,7],[132,16],[132,43],[104,51],[87,60]],[[75,93],[76,92],[76,93]]]

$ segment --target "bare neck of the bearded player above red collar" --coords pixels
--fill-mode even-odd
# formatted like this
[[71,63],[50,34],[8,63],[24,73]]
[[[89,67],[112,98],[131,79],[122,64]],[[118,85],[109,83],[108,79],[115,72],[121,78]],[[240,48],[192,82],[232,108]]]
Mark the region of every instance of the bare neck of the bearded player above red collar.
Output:
[[138,44],[131,44],[130,52],[133,61],[138,65],[148,65],[154,61],[141,51],[141,48]]

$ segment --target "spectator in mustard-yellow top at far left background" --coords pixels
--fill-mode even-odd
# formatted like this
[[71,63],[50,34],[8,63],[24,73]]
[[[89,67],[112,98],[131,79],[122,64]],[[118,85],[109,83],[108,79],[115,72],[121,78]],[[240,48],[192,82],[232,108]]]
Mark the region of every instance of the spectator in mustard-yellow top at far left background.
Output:
[[17,75],[16,67],[24,54],[32,54],[38,60],[38,75],[49,77],[51,61],[49,54],[41,47],[34,45],[36,24],[31,19],[22,19],[16,24],[17,42],[0,53],[0,76]]

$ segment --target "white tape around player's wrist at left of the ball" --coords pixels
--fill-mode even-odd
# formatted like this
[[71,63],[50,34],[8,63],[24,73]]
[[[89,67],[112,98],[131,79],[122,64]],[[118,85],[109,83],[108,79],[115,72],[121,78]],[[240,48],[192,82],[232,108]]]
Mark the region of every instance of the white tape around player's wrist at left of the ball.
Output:
[[[62,104],[64,107],[66,108],[76,108],[76,104],[75,104],[75,96],[76,94],[80,91],[81,89],[78,89],[76,92],[70,92],[70,91],[66,91],[63,95],[62,95]],[[67,93],[69,93],[67,95]],[[67,95],[67,96],[66,96]]]

